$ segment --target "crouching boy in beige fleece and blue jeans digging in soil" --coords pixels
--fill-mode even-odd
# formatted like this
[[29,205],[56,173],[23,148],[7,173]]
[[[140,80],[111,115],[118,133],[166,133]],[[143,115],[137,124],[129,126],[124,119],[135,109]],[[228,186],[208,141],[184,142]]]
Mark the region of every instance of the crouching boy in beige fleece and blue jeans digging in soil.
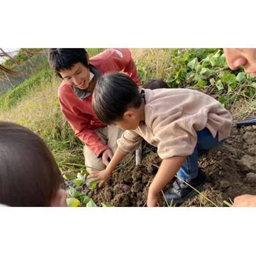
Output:
[[144,138],[157,146],[161,166],[148,189],[147,206],[161,205],[159,193],[177,173],[167,200],[182,203],[202,189],[209,178],[197,165],[200,150],[217,147],[229,136],[231,115],[214,98],[189,89],[142,89],[125,74],[109,73],[97,82],[93,94],[95,114],[105,124],[125,129],[118,148],[105,170],[89,176],[102,180]]

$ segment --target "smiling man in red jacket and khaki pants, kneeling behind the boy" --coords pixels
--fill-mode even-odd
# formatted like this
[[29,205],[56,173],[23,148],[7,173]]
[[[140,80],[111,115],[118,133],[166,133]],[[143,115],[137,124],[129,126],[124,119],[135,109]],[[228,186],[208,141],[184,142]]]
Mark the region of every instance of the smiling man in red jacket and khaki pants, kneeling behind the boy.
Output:
[[107,49],[89,59],[83,48],[54,48],[49,49],[48,57],[50,66],[63,79],[58,91],[60,108],[75,136],[85,144],[83,153],[88,172],[105,169],[123,130],[98,120],[91,105],[92,92],[99,76],[111,71],[124,72],[140,86],[131,52]]

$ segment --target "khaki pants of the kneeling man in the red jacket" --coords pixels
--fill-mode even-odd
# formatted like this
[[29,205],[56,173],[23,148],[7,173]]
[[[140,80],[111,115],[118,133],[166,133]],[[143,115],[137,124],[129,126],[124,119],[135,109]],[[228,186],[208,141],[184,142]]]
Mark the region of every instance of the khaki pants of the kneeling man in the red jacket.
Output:
[[[121,138],[124,130],[116,128],[114,126],[106,126],[103,128],[94,129],[94,132],[97,133],[102,142],[107,144],[114,154],[117,149],[117,139]],[[98,158],[97,155],[90,150],[89,147],[84,145],[83,147],[84,163],[86,166],[93,167],[97,170],[104,170],[106,166],[102,163],[102,158]],[[123,162],[127,161],[132,154],[128,154],[123,159]],[[87,167],[86,170],[89,173],[95,172],[95,169]]]

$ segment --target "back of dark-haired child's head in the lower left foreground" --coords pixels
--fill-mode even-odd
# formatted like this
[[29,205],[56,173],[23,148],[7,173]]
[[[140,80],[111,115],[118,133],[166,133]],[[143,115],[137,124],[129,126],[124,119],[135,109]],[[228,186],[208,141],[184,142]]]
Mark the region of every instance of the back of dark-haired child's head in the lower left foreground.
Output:
[[67,206],[57,163],[34,132],[0,121],[0,203],[7,206]]

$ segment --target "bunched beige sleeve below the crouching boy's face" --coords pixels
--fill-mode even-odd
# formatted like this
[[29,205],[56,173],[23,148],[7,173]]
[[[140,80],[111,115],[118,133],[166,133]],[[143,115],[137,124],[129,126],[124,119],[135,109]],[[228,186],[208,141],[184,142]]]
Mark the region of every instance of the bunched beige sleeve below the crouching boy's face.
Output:
[[120,139],[117,140],[118,148],[124,153],[135,151],[142,142],[142,137],[134,131],[126,130]]

